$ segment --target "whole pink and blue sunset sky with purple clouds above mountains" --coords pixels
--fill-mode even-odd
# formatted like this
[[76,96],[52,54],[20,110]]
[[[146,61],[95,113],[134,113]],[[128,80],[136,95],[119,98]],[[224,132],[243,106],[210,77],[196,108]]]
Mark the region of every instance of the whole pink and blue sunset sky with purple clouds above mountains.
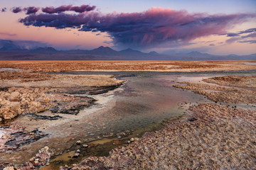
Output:
[[26,48],[256,53],[255,0],[1,0],[0,22]]

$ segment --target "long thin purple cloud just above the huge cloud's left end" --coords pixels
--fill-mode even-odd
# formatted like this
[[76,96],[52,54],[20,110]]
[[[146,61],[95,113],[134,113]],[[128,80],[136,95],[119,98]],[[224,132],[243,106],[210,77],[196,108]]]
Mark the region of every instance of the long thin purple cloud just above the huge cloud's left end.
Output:
[[75,11],[77,13],[83,13],[86,11],[93,11],[96,8],[96,6],[89,6],[89,5],[82,5],[82,6],[59,6],[57,8],[54,7],[46,7],[46,8],[42,8],[42,11],[44,13],[61,13],[64,11]]

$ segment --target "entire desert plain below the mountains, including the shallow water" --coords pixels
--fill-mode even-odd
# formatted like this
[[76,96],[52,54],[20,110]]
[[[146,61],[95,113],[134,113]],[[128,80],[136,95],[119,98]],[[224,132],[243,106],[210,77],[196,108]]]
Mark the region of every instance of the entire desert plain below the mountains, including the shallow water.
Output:
[[255,61],[1,61],[0,94],[0,169],[256,168]]

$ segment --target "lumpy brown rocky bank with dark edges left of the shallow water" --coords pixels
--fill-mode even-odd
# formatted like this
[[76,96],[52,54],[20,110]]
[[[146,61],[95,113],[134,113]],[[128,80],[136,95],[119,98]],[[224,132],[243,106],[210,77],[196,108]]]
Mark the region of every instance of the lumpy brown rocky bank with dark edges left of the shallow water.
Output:
[[80,109],[90,106],[94,99],[73,96],[70,88],[77,89],[80,94],[100,94],[115,89],[122,82],[106,75],[0,72],[0,121],[49,109],[53,113],[77,114]]

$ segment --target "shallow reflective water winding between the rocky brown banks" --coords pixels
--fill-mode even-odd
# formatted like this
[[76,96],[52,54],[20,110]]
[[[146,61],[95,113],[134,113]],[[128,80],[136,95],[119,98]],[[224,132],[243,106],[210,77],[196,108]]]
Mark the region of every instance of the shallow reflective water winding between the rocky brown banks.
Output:
[[[76,72],[75,74],[93,74]],[[100,73],[95,73],[100,74]],[[102,73],[101,73],[102,74]],[[107,73],[104,74],[115,74]],[[21,151],[0,153],[1,162],[26,162],[39,149],[48,146],[55,155],[50,166],[42,169],[58,169],[65,164],[75,164],[89,156],[107,156],[111,149],[127,144],[131,137],[144,132],[159,130],[164,120],[186,118],[186,109],[193,103],[213,103],[192,91],[176,89],[177,81],[200,82],[216,74],[175,74],[168,72],[117,72],[119,79],[127,81],[123,86],[105,94],[85,95],[95,98],[95,105],[85,108],[78,115],[38,113],[20,116],[11,125],[21,125],[28,131],[40,130],[46,137],[23,146]],[[219,75],[219,74],[218,74]],[[83,94],[74,94],[82,96]],[[188,103],[181,107],[181,103]],[[48,120],[48,117],[56,119]],[[42,120],[41,118],[46,118]],[[0,135],[1,135],[0,131]],[[76,145],[80,140],[81,145]],[[90,147],[82,147],[82,145]],[[80,156],[73,158],[76,150]],[[1,163],[0,162],[0,163]]]

